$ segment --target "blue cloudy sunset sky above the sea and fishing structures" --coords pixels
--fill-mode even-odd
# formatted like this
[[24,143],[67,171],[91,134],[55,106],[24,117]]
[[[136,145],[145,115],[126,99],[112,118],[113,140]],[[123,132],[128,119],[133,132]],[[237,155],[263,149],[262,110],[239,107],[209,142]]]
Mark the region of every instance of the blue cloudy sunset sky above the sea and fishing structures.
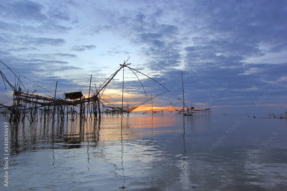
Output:
[[[170,90],[154,107],[183,98],[182,70],[187,105],[279,115],[287,109],[286,13],[283,0],[3,0],[0,60],[29,92],[52,96],[58,81],[56,95],[63,97],[79,90],[87,96],[91,74],[95,90],[130,57],[131,68]],[[17,84],[3,64],[0,70]],[[124,72],[125,95],[145,95],[135,74]],[[121,93],[122,74],[106,96]],[[147,95],[166,91],[137,76]],[[9,104],[12,93],[2,82],[0,103]]]

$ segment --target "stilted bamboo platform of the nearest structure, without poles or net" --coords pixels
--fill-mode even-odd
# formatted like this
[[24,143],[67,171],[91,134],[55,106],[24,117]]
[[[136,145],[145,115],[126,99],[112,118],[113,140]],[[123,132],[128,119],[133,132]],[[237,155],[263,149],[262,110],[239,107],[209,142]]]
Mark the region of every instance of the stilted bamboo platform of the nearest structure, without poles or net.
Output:
[[[44,97],[37,95],[35,92],[14,91],[13,96],[12,106],[6,107],[11,112],[9,122],[23,122],[25,117],[28,118],[30,123],[38,121],[38,117],[40,117],[40,121],[44,119],[44,121],[63,122],[65,121],[65,116],[66,120],[68,120],[68,114],[70,114],[71,121],[77,121],[78,118],[80,121],[86,121],[85,108],[89,105],[92,105],[92,107],[88,111],[92,111],[95,114],[100,113],[98,107],[95,106],[99,103],[98,94],[72,101],[50,96]],[[79,108],[79,111],[77,111],[77,108]],[[100,115],[99,117],[91,115],[90,119],[92,117],[94,117],[94,120],[100,120]]]

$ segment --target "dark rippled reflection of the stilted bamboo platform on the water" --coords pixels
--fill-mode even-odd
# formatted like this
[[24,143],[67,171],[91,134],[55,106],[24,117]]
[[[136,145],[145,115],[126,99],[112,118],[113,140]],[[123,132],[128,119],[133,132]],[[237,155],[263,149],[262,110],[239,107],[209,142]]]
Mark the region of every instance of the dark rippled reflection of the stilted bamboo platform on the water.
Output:
[[11,154],[49,148],[81,148],[85,142],[92,143],[96,147],[99,141],[99,130],[100,123],[96,121],[90,123],[13,124],[11,128]]

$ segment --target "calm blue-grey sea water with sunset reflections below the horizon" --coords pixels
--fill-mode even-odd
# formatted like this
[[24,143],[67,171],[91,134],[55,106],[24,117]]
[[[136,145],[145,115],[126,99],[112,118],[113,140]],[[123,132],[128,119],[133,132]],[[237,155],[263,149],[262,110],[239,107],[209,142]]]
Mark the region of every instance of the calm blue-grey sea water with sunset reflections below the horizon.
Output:
[[7,190],[287,190],[286,119],[131,115],[9,127]]

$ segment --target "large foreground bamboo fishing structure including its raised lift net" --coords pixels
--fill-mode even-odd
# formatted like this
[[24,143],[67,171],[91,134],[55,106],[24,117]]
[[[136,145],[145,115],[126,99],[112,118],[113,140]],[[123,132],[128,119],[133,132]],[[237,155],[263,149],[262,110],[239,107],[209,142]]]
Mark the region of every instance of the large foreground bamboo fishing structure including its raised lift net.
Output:
[[[10,115],[10,118],[9,118],[10,123],[20,122],[20,121],[24,122],[25,118],[27,118],[30,123],[34,123],[38,121],[39,120],[38,118],[40,118],[40,121],[42,121],[43,119],[44,121],[52,120],[53,122],[54,121],[63,122],[65,120],[68,121],[68,119],[70,119],[71,121],[77,121],[78,119],[79,121],[88,121],[88,120],[89,121],[90,120],[100,121],[101,120],[100,104],[102,104],[102,108],[105,114],[107,115],[121,114],[123,116],[123,113],[130,113],[131,111],[133,111],[140,105],[165,93],[163,92],[160,94],[155,94],[153,96],[152,95],[148,96],[146,94],[144,86],[142,85],[138,76],[135,74],[135,72],[138,72],[140,74],[143,74],[143,73],[131,68],[130,67],[131,63],[127,63],[127,61],[124,61],[123,64],[120,64],[120,68],[116,72],[114,72],[108,79],[106,79],[104,83],[100,85],[99,88],[96,88],[96,85],[95,85],[94,91],[91,88],[91,81],[92,81],[92,75],[91,75],[89,95],[87,98],[83,96],[81,91],[79,91],[79,92],[69,92],[69,93],[64,92],[63,94],[64,97],[62,99],[56,98],[58,81],[56,82],[55,94],[53,94],[53,97],[51,96],[45,97],[45,96],[38,95],[36,89],[32,92],[29,92],[29,89],[26,90],[24,84],[21,82],[20,76],[17,76],[11,68],[9,68],[2,61],[0,61],[4,66],[6,66],[14,74],[15,79],[17,79],[17,84],[15,80],[15,86],[13,86],[7,80],[3,72],[0,70],[1,77],[5,85],[5,90],[7,91],[6,84],[8,84],[10,88],[13,90],[13,99],[12,99],[13,103],[11,105],[0,104],[1,115],[2,116]],[[127,106],[123,107],[124,68],[128,68],[135,74],[135,76],[139,80],[146,94],[144,102],[138,104],[137,106],[129,106],[129,104],[127,103]],[[123,69],[123,88],[122,88],[122,102],[121,102],[122,104],[121,104],[121,107],[118,107],[118,106],[115,106],[114,103],[108,103],[107,101],[105,101],[106,99],[103,96],[103,92],[106,89],[107,85],[113,80],[113,78],[116,76],[116,74],[121,69]],[[150,78],[146,74],[143,74],[143,75]],[[150,78],[150,79],[154,80],[153,78]],[[160,86],[164,87],[162,84],[160,84],[156,80],[154,81],[158,83]],[[24,88],[24,90],[22,90],[22,88]],[[45,89],[45,88],[42,88],[42,89]],[[165,89],[168,90],[167,88]],[[92,95],[90,96],[91,91],[92,91]],[[101,97],[103,97],[103,99]],[[104,104],[103,102],[106,102],[106,104]],[[87,111],[87,114],[85,113],[85,111]]]

